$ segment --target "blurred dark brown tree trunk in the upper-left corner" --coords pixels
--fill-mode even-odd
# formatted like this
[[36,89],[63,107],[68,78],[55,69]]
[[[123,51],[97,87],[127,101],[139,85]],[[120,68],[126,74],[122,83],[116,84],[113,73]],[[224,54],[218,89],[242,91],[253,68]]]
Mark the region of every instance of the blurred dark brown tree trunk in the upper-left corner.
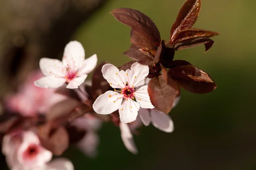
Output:
[[0,0],[0,96],[41,57],[60,57],[76,28],[107,1]]

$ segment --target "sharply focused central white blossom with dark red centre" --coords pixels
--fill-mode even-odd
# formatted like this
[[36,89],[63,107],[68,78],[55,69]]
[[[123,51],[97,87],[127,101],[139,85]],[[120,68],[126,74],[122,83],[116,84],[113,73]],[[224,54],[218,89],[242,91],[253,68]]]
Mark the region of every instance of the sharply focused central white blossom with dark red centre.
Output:
[[148,86],[144,85],[148,73],[148,66],[138,62],[126,71],[119,71],[111,64],[103,65],[103,77],[115,90],[100,95],[93,103],[94,111],[110,114],[118,109],[120,120],[129,123],[136,120],[140,108],[154,108],[148,96]]

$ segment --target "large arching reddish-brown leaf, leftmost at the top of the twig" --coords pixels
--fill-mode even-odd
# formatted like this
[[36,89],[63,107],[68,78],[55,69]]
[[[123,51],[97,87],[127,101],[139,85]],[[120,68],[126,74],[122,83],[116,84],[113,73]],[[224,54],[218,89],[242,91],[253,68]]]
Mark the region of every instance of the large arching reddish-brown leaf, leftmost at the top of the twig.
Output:
[[160,45],[161,37],[157,26],[142,12],[131,8],[117,8],[111,11],[111,14],[113,14],[116,20],[130,26],[154,46]]

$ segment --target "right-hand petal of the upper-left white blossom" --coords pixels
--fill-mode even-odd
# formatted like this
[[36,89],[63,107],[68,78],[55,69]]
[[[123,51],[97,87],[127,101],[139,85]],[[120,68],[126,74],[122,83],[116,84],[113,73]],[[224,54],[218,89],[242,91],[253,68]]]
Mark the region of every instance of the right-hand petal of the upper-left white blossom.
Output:
[[96,67],[97,61],[98,61],[98,58],[96,54],[93,54],[91,57],[84,59],[84,62],[82,63],[78,73],[89,74]]

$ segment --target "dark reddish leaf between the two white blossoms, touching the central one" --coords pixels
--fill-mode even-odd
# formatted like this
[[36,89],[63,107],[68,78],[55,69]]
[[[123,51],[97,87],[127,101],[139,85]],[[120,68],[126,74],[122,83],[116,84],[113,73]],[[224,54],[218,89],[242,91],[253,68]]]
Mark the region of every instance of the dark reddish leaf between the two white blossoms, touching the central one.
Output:
[[111,89],[107,80],[102,76],[102,66],[105,64],[107,62],[102,62],[93,72],[92,87],[90,90],[93,99],[96,99],[99,95]]

